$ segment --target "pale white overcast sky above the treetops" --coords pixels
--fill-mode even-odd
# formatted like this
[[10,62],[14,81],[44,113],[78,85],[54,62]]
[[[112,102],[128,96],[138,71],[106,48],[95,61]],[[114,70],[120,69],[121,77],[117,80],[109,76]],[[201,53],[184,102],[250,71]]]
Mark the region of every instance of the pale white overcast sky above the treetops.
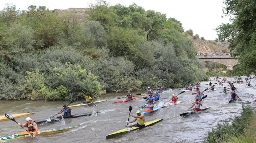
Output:
[[[184,30],[192,29],[195,34],[206,40],[215,40],[217,28],[221,23],[228,23],[224,16],[223,0],[106,0],[110,5],[118,3],[129,6],[133,2],[145,10],[154,10],[165,13],[167,18],[176,18],[181,21]],[[96,0],[1,0],[0,9],[5,4],[14,4],[20,10],[27,10],[29,5],[46,6],[50,10],[68,8],[88,8],[89,3]],[[224,16],[224,18],[221,18]]]

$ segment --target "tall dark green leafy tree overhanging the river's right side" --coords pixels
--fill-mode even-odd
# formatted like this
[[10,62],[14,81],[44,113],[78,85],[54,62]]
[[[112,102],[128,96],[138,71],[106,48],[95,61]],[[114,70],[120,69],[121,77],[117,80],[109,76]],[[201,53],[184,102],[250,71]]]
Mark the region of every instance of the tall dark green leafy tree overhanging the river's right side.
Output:
[[230,23],[222,23],[215,30],[216,41],[230,42],[229,50],[238,58],[239,69],[246,75],[256,73],[256,1],[225,0],[224,15]]

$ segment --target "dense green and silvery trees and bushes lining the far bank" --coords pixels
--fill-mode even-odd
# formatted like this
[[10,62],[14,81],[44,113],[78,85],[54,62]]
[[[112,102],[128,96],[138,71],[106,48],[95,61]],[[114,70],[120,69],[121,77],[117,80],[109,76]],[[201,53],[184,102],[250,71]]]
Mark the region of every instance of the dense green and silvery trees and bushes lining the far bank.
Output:
[[69,100],[207,80],[182,23],[97,1],[84,22],[45,6],[0,11],[0,99]]

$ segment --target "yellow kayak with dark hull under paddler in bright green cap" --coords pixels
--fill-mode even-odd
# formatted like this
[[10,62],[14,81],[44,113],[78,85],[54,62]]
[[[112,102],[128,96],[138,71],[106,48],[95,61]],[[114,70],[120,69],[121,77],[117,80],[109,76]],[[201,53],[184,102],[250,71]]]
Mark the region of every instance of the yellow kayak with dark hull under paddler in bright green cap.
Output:
[[158,119],[158,120],[154,120],[154,121],[146,122],[145,126],[142,126],[142,127],[128,127],[128,128],[123,129],[123,130],[119,130],[117,132],[114,132],[114,133],[111,133],[109,135],[106,135],[106,139],[114,138],[116,136],[119,136],[119,135],[122,135],[122,134],[125,134],[125,133],[128,133],[128,132],[131,132],[131,131],[135,131],[135,130],[138,130],[138,129],[142,129],[142,128],[154,125],[154,124],[156,124],[156,123],[158,123],[158,122],[160,122],[162,120],[163,120],[163,118]]

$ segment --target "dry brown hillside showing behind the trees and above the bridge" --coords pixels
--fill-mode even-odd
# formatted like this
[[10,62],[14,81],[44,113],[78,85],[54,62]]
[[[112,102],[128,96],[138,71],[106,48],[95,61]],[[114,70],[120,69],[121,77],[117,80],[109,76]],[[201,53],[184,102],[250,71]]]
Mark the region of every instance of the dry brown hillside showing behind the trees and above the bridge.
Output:
[[[55,9],[53,12],[59,16],[64,16],[65,14],[73,15],[76,17],[79,23],[86,22],[86,16],[88,15],[89,8],[69,8],[69,9]],[[201,40],[193,39],[192,36],[187,35],[188,39],[194,42],[194,47],[198,53],[229,53],[227,49],[228,44],[217,43],[214,40]]]

